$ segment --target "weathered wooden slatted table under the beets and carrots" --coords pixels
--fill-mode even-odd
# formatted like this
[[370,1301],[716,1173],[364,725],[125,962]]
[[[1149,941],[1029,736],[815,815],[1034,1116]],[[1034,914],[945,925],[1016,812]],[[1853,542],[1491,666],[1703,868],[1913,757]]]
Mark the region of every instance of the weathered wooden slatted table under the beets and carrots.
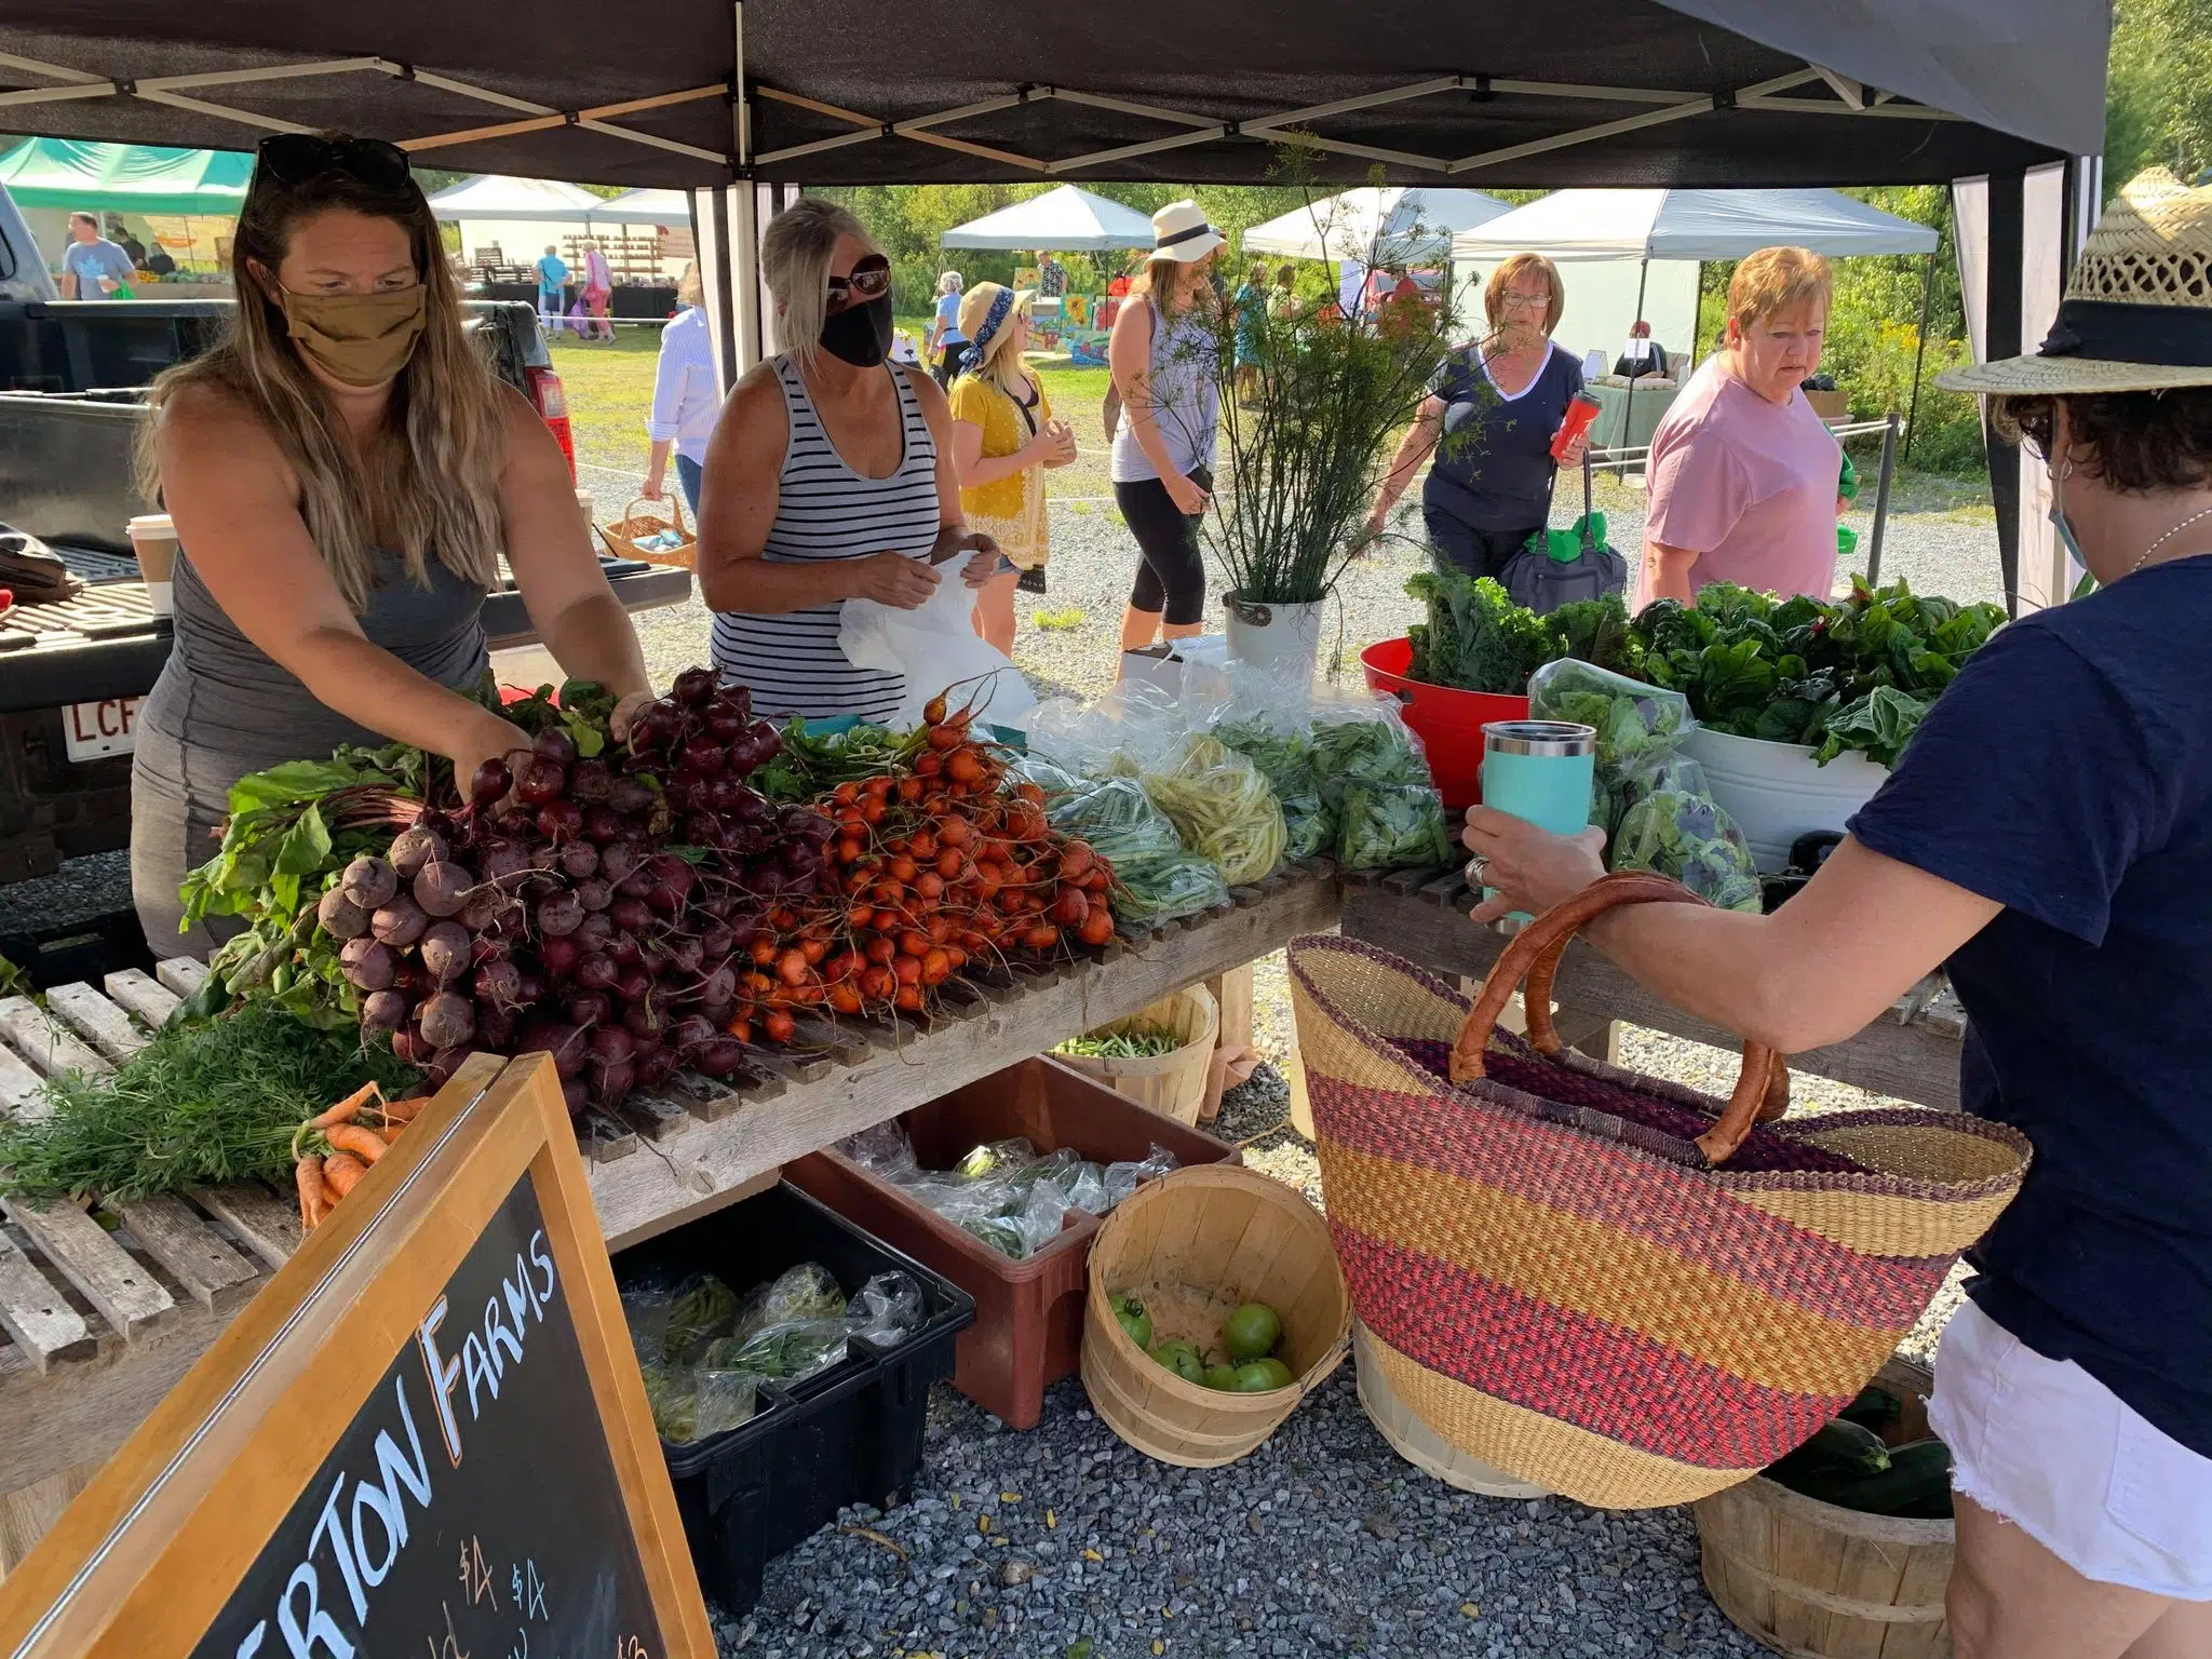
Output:
[[[580,1139],[611,1250],[743,1197],[790,1159],[1002,1071],[1183,984],[1230,973],[1294,933],[1336,925],[1325,863],[1237,889],[1206,916],[1117,940],[1099,958],[951,982],[927,1024],[812,1020],[810,1046],[752,1051],[726,1084],[679,1075]],[[53,987],[42,1011],[0,1000],[0,1110],[38,1110],[40,1077],[113,1068],[206,969],[161,962]],[[299,1248],[288,1192],[204,1188],[137,1203],[4,1206],[0,1228],[0,1573]]]

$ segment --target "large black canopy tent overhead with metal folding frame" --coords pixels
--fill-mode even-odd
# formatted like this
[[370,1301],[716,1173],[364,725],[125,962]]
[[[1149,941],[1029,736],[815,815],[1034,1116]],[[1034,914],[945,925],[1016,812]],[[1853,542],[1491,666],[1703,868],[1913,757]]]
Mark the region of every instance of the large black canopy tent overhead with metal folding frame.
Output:
[[759,215],[799,181],[1259,184],[1287,142],[1318,184],[1989,179],[2000,356],[2024,179],[2101,146],[2108,27],[2106,0],[661,0],[635,27],[597,0],[9,0],[0,128],[343,126],[434,166],[686,186],[730,369],[759,349]]

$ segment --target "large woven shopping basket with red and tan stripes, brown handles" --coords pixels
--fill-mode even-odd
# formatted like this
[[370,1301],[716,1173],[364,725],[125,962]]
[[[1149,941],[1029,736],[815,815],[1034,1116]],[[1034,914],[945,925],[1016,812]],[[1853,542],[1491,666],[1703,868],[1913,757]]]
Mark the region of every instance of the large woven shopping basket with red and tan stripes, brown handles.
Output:
[[[1290,949],[1329,1230],[1378,1367],[1449,1444],[1608,1509],[1692,1502],[1807,1440],[2028,1164],[2022,1135],[1960,1113],[1756,1124],[1787,1073],[1754,1044],[1728,1108],[1562,1051],[1566,940],[1655,900],[1703,902],[1610,876],[1533,920],[1473,1006],[1367,945]],[[1522,975],[1528,1042],[1495,1029]]]

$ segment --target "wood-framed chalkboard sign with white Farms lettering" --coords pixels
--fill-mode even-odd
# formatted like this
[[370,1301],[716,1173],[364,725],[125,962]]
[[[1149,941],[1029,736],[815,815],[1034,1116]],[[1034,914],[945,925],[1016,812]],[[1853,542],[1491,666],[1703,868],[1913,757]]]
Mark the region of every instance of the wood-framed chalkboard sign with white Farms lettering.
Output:
[[86,1652],[712,1659],[551,1066],[471,1062],[0,1584]]

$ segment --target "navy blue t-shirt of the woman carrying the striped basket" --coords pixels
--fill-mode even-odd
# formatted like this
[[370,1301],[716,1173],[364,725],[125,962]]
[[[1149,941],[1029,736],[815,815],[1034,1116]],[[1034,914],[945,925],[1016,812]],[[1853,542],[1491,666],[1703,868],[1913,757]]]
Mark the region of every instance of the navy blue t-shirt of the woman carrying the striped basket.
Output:
[[1851,834],[2004,905],[1960,1093],[2035,1161],[1973,1298],[2212,1458],[2212,555],[2004,628]]

